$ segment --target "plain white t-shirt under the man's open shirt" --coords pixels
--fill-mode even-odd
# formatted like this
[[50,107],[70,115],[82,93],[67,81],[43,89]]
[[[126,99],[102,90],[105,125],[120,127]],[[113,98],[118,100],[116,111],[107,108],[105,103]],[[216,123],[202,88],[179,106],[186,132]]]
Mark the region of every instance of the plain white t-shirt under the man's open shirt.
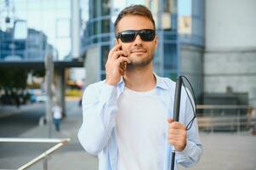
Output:
[[128,88],[117,101],[117,170],[163,169],[167,108],[156,89]]

